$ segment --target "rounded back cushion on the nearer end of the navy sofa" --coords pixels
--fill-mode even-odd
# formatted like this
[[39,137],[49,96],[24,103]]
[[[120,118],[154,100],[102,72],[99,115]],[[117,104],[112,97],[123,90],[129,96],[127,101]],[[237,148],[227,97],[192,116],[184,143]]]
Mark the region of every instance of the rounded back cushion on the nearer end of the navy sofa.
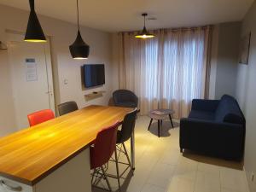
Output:
[[221,97],[215,112],[215,120],[218,122],[244,124],[243,114],[234,97],[227,95]]

